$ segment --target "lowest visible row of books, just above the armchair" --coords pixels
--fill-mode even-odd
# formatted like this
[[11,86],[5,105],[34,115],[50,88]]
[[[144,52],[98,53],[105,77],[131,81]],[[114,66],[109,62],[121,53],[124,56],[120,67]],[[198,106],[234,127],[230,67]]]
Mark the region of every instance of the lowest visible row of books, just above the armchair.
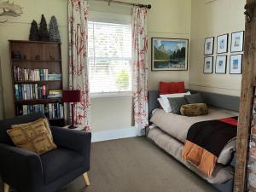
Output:
[[63,104],[60,102],[36,105],[22,105],[17,106],[16,110],[18,115],[24,115],[28,113],[44,113],[48,119],[64,118]]

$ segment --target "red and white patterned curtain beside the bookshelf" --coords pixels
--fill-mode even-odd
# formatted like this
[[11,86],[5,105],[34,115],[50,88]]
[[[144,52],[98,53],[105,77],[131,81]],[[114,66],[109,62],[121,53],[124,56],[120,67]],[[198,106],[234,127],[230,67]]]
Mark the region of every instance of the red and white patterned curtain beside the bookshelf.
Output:
[[69,89],[82,91],[82,102],[75,108],[76,123],[91,131],[90,95],[87,65],[88,2],[68,0]]

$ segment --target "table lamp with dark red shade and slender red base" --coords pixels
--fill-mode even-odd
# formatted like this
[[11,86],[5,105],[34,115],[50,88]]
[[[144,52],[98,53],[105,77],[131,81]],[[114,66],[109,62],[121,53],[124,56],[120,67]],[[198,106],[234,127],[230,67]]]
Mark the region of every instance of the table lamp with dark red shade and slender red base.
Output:
[[71,103],[71,125],[68,126],[69,129],[75,129],[78,126],[75,125],[75,105],[77,102],[81,102],[82,94],[81,90],[63,90],[62,91],[62,102]]

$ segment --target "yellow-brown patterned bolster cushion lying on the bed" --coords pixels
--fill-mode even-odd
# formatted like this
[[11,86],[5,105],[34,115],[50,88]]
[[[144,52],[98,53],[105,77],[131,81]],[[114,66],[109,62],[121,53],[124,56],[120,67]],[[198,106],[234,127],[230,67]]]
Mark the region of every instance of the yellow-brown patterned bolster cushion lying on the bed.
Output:
[[180,113],[184,116],[199,116],[208,113],[208,107],[206,103],[193,103],[188,105],[183,105],[180,108]]

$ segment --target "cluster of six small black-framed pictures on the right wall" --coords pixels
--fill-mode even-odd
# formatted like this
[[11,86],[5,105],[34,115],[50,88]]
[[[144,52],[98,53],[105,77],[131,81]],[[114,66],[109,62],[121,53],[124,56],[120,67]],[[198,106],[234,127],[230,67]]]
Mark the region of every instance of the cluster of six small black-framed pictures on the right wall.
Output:
[[[215,73],[227,73],[227,61],[229,52],[229,33],[219,35],[216,44]],[[232,32],[230,43],[230,74],[241,74],[242,51],[244,42],[244,31]],[[204,73],[213,73],[214,37],[205,38],[204,44]],[[240,53],[239,53],[240,52]],[[237,53],[237,54],[235,54]],[[226,55],[224,55],[226,54]]]

